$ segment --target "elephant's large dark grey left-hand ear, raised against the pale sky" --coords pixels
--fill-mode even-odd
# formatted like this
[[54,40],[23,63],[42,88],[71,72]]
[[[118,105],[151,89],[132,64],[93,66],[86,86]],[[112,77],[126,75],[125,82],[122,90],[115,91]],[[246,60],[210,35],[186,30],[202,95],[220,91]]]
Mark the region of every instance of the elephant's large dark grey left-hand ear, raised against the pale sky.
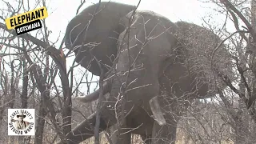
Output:
[[99,76],[101,70],[106,73],[117,54],[118,36],[125,30],[120,19],[134,8],[122,3],[100,2],[76,15],[66,27],[65,35],[66,47],[74,50],[75,61],[94,75]]

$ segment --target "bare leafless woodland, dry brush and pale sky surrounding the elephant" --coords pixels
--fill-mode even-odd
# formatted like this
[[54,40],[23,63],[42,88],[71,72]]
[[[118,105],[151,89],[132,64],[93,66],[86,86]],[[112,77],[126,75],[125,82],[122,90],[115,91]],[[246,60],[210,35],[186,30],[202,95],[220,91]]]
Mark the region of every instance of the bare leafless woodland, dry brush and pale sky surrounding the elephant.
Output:
[[[6,29],[5,18],[47,6],[50,1],[12,2],[2,0],[0,7],[0,143],[54,143],[94,112],[97,102],[82,104],[73,98],[97,90],[98,78],[70,59],[74,53],[68,54],[62,37],[51,39],[54,30],[48,29],[47,18],[42,20],[42,29],[28,34],[17,36],[15,31]],[[192,103],[178,124],[177,142],[256,143],[256,1],[201,2],[215,6],[211,14],[202,18],[202,26],[223,39],[234,62],[235,75],[222,78],[227,88],[214,98]],[[84,3],[81,1],[78,11]],[[225,19],[221,25],[211,21],[215,14]],[[85,87],[86,93],[82,91]],[[36,109],[35,136],[8,137],[9,108]],[[102,142],[107,142],[108,137],[107,132],[102,133]],[[142,143],[138,136],[133,137],[134,143]],[[94,138],[84,143],[94,143]]]

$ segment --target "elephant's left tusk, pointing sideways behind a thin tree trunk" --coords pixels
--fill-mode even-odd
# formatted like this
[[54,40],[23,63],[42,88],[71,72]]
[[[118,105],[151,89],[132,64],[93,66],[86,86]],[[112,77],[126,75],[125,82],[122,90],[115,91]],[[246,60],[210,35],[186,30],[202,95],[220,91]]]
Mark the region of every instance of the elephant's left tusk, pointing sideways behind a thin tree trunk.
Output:
[[[104,82],[103,83],[103,95],[110,92],[110,82]],[[80,102],[93,102],[99,98],[100,89],[94,91],[91,94],[88,94],[86,96],[79,96],[74,99],[80,101]]]

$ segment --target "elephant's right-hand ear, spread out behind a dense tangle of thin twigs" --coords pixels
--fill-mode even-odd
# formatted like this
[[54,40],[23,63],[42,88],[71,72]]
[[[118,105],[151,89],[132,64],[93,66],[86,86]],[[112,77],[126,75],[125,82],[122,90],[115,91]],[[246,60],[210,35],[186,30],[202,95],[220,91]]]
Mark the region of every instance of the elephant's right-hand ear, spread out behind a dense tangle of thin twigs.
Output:
[[187,55],[185,65],[190,68],[192,74],[196,75],[196,81],[208,84],[209,96],[214,94],[215,82],[218,83],[220,89],[224,88],[225,84],[220,79],[214,78],[213,66],[214,69],[218,69],[220,73],[230,78],[234,78],[232,76],[234,73],[226,46],[222,45],[214,54],[214,58],[212,57],[213,51],[222,42],[221,38],[212,30],[193,23],[176,22],[176,25],[179,28],[179,42]]

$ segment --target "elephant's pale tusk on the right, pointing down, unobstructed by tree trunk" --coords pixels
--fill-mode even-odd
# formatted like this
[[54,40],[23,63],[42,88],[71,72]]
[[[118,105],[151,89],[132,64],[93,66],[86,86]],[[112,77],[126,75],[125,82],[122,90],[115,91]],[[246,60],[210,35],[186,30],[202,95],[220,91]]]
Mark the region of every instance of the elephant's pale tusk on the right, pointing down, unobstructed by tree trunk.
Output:
[[150,99],[150,108],[152,110],[154,120],[158,122],[160,126],[166,125],[166,120],[163,117],[157,96]]

